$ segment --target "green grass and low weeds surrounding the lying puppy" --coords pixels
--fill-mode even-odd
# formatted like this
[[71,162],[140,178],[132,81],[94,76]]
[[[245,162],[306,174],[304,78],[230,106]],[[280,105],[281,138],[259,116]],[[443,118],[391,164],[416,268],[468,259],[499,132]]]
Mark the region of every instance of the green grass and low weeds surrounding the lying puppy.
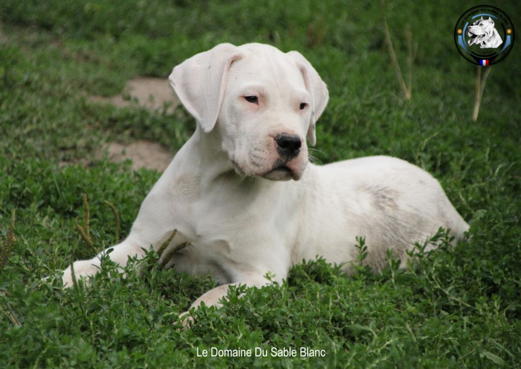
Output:
[[[17,217],[17,240],[0,270],[0,366],[519,367],[518,43],[492,67],[473,122],[476,67],[457,53],[452,30],[475,3],[388,2],[402,66],[406,24],[419,44],[410,102],[390,63],[379,2],[218,3],[0,3],[0,242],[13,210]],[[519,28],[519,5],[490,5]],[[89,287],[42,281],[93,255],[73,226],[83,193],[101,250],[116,241],[104,201],[116,205],[125,236],[159,177],[94,159],[102,143],[148,139],[173,152],[194,129],[181,108],[167,116],[85,96],[117,94],[135,76],[167,77],[219,42],[252,41],[299,50],[328,84],[314,156],[327,163],[386,154],[425,168],[470,222],[471,237],[429,253],[418,245],[404,269],[390,255],[376,274],[363,261],[351,277],[321,259],[306,261],[281,286],[230,291],[222,310],[195,312],[189,330],[174,324],[177,315],[214,282],[161,270],[153,252],[129,266],[126,279],[109,273],[107,261]],[[327,355],[196,357],[211,347],[309,347]]]

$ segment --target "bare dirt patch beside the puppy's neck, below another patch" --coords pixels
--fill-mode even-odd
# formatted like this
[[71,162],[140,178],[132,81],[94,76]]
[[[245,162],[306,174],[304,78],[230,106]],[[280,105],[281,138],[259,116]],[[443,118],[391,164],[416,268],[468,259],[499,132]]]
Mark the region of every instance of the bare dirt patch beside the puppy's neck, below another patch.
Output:
[[145,167],[159,172],[166,169],[173,157],[163,146],[150,141],[135,141],[129,145],[110,142],[103,146],[102,152],[116,163],[131,159],[134,170]]

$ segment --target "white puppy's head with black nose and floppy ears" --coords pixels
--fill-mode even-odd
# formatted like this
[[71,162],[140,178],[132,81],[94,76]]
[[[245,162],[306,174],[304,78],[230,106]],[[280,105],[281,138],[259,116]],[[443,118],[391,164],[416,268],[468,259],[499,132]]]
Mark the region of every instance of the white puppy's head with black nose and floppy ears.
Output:
[[298,52],[220,44],[173,69],[170,84],[206,133],[216,134],[240,175],[298,180],[306,136],[328,101],[326,84]]

